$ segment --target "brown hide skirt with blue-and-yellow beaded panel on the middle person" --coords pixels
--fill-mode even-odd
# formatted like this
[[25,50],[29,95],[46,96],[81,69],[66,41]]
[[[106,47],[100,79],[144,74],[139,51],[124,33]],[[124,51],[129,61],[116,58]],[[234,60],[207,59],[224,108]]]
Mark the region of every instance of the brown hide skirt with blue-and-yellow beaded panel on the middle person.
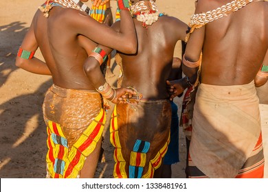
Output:
[[115,147],[115,178],[153,178],[163,163],[170,141],[168,100],[115,105],[110,141]]

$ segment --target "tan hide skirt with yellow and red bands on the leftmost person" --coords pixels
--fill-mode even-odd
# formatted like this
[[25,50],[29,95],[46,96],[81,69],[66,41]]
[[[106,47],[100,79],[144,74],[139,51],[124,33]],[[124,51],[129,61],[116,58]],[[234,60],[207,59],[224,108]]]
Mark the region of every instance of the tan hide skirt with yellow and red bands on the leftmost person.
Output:
[[52,86],[45,95],[47,178],[78,178],[100,139],[106,114],[99,93]]

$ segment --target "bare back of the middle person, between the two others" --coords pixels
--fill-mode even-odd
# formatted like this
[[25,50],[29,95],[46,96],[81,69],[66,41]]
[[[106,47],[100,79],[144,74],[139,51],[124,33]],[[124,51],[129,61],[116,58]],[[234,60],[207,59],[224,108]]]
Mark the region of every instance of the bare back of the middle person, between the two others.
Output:
[[122,54],[122,86],[133,86],[147,99],[166,99],[166,80],[172,69],[175,46],[184,40],[187,25],[170,16],[160,16],[148,29],[134,20],[138,51],[134,56]]

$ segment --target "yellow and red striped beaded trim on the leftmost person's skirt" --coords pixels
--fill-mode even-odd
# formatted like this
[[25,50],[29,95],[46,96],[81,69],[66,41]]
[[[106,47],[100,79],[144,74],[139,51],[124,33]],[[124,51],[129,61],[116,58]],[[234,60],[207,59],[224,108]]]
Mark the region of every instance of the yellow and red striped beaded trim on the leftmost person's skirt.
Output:
[[85,159],[102,138],[105,121],[106,115],[101,109],[73,146],[68,146],[60,124],[47,121],[47,177],[77,178]]

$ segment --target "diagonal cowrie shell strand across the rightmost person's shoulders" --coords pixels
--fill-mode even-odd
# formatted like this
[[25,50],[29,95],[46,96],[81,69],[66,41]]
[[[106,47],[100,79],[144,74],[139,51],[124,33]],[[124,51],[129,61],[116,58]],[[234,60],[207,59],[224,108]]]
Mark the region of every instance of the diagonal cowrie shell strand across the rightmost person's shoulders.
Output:
[[241,8],[245,7],[248,3],[253,1],[264,1],[264,0],[234,0],[226,5],[221,6],[221,8],[216,8],[215,10],[210,10],[205,13],[193,14],[188,24],[191,27],[190,32],[186,36],[186,42],[194,29],[199,29],[203,25],[210,23],[216,19],[220,19],[223,16],[228,16],[231,12],[236,12]]

